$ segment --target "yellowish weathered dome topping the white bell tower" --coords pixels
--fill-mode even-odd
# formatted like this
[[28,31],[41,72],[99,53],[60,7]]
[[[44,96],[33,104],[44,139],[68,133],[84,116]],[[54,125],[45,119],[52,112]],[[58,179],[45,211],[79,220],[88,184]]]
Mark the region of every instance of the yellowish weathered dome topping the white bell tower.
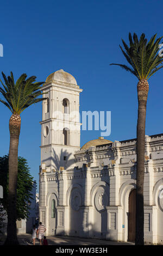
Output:
[[46,78],[46,83],[51,82],[52,80],[77,85],[77,81],[75,80],[75,78],[71,74],[65,72],[63,69],[60,69],[50,74]]

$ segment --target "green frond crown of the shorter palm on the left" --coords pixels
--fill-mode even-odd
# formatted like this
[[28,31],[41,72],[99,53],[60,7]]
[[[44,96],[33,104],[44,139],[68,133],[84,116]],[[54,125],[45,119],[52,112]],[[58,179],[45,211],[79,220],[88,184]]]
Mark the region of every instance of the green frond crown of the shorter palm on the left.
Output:
[[44,82],[35,82],[36,76],[27,78],[26,74],[22,74],[15,83],[12,72],[8,78],[3,72],[2,75],[4,83],[0,79],[3,85],[3,88],[0,87],[0,93],[4,99],[0,99],[0,102],[7,106],[12,113],[21,114],[24,109],[33,103],[46,99],[38,98],[38,96],[43,94],[41,93],[40,86]]

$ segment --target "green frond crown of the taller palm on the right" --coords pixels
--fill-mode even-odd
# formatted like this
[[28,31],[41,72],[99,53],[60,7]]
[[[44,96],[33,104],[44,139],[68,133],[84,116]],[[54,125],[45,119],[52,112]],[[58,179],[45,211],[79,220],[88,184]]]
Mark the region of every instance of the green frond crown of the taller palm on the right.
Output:
[[160,65],[163,62],[163,57],[158,54],[162,37],[156,39],[155,34],[147,42],[145,34],[142,34],[140,39],[138,39],[135,33],[133,34],[133,38],[131,33],[129,33],[129,46],[122,39],[124,48],[121,45],[120,48],[130,66],[115,63],[110,65],[121,66],[121,68],[131,72],[139,80],[148,80],[156,71],[163,68],[163,65]]

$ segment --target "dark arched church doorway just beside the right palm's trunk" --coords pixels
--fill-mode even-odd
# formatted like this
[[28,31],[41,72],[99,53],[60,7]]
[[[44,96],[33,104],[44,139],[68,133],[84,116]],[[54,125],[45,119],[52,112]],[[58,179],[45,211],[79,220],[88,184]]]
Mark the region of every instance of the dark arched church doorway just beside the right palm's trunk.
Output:
[[136,190],[129,194],[128,241],[135,242],[136,230]]

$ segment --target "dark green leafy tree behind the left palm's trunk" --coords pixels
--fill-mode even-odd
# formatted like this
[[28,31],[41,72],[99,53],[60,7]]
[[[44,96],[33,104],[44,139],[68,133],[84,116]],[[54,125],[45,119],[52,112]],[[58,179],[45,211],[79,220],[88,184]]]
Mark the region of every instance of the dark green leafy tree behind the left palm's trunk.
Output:
[[[9,157],[0,157],[0,180],[3,186],[3,199],[0,203],[8,212],[8,183],[9,183]],[[18,173],[17,173],[17,220],[24,219],[29,215],[30,206],[28,203],[32,199],[33,177],[30,175],[27,160],[18,157]]]

